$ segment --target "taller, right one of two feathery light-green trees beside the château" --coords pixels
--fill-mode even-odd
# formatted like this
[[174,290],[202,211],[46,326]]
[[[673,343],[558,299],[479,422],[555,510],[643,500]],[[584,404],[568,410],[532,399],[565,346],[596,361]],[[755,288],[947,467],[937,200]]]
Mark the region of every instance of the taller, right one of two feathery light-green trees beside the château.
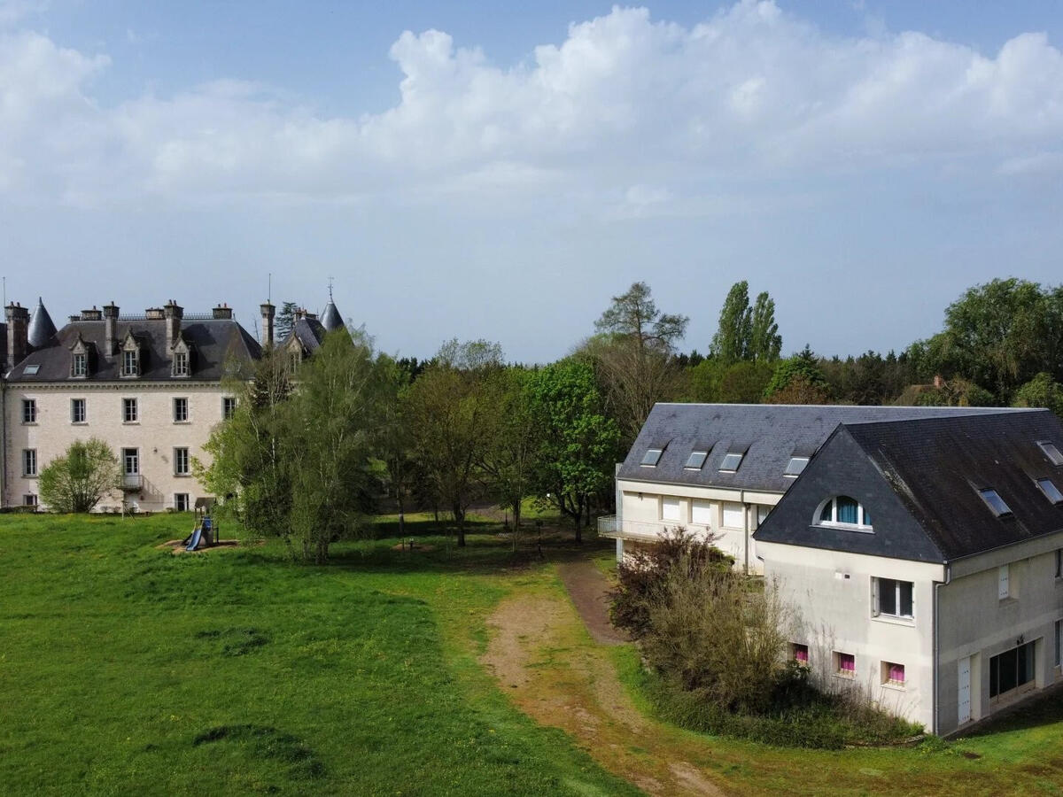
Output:
[[322,564],[372,506],[386,362],[365,336],[330,333],[302,367],[290,405],[291,530]]

